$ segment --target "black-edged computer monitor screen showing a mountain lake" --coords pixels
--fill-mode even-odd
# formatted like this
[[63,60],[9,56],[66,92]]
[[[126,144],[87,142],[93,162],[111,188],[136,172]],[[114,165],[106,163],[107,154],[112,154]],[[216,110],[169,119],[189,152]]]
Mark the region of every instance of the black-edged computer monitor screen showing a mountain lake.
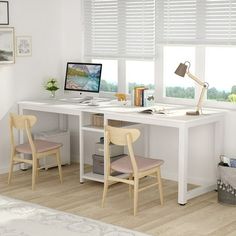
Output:
[[68,62],[65,90],[99,93],[102,64]]

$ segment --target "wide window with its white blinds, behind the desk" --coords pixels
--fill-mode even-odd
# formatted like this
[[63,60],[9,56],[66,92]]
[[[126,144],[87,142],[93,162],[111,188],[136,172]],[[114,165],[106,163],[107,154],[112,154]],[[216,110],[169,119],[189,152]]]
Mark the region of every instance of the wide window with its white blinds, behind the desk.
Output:
[[85,58],[103,64],[101,91],[144,85],[193,105],[201,88],[174,74],[189,61],[208,100],[236,102],[236,1],[84,0],[84,32]]

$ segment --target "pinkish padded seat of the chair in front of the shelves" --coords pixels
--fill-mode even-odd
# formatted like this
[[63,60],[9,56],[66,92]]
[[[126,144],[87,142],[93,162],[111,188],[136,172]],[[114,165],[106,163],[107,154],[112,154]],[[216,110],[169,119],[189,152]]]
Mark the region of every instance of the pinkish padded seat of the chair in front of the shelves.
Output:
[[[138,171],[146,171],[152,168],[158,167],[164,163],[163,160],[160,159],[151,159],[144,157],[135,157]],[[133,173],[133,168],[131,164],[131,160],[129,156],[122,157],[111,163],[111,168],[115,171],[119,171],[122,173]]]

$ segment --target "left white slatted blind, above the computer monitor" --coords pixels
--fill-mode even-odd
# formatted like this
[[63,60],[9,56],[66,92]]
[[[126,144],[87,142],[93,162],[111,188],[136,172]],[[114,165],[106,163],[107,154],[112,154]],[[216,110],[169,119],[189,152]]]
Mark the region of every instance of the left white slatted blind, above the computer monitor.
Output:
[[85,0],[85,57],[155,57],[155,0]]

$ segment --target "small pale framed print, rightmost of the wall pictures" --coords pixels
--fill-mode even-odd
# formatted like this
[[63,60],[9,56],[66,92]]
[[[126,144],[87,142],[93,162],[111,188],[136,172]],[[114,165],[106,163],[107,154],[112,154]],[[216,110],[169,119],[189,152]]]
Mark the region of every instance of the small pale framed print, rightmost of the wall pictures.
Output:
[[31,36],[17,36],[16,37],[16,55],[20,57],[32,55]]

